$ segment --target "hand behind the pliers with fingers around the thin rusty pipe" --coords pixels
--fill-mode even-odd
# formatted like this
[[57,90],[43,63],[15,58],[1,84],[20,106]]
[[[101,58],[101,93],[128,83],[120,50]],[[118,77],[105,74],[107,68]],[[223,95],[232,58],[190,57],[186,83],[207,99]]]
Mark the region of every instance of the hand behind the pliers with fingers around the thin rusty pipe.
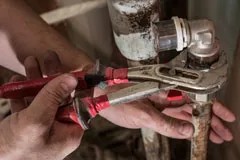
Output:
[[[105,91],[97,89],[96,95],[114,92],[128,85],[113,86]],[[160,93],[147,100],[140,100],[130,104],[123,104],[108,108],[100,113],[109,121],[127,128],[149,128],[162,135],[178,139],[188,139],[194,129],[192,122],[192,107],[187,97],[183,101],[170,103],[167,94]],[[184,105],[185,104],[185,105]],[[223,121],[234,122],[234,114],[219,102],[213,105],[210,140],[221,144],[233,139],[231,131]]]

